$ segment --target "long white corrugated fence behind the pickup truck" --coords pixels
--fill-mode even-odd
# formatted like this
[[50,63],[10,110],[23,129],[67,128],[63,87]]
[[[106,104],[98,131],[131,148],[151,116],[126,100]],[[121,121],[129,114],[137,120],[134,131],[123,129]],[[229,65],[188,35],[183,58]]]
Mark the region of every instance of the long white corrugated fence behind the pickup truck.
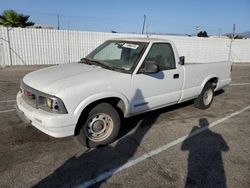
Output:
[[[9,36],[8,36],[9,35]],[[78,61],[107,39],[147,37],[141,34],[104,33],[0,27],[0,65],[63,64]],[[174,41],[187,62],[228,60],[230,39],[151,35]],[[233,62],[250,62],[250,40],[232,42]]]

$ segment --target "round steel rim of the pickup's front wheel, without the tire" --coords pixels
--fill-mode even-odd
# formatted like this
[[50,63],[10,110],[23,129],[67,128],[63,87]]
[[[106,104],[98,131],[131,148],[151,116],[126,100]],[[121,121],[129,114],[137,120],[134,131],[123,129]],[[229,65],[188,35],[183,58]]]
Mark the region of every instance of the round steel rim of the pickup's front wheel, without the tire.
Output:
[[96,114],[87,120],[86,135],[90,140],[103,141],[113,130],[113,120],[107,114]]

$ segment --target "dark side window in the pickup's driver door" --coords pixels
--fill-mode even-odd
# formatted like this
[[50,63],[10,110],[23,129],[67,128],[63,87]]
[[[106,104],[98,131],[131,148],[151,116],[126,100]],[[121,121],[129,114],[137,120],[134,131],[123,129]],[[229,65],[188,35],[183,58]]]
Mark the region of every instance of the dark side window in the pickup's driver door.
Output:
[[174,52],[170,44],[155,43],[152,45],[145,59],[146,62],[154,61],[160,70],[175,69]]

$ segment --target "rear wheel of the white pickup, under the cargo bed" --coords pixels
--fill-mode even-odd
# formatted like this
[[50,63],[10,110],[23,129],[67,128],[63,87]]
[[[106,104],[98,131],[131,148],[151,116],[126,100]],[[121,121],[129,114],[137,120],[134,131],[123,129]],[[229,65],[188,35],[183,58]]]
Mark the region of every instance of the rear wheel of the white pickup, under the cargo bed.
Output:
[[207,109],[213,102],[214,87],[213,84],[208,82],[204,86],[201,94],[194,100],[194,106],[199,109]]

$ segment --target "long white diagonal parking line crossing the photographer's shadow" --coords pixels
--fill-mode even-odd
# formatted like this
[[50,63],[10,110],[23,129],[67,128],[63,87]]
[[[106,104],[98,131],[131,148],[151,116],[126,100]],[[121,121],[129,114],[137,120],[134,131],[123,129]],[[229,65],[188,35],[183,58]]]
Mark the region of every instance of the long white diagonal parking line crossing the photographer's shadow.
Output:
[[207,130],[209,128],[212,128],[212,127],[214,127],[216,125],[219,125],[220,123],[222,123],[222,122],[224,122],[224,121],[226,121],[226,120],[228,120],[228,119],[230,119],[230,118],[232,118],[234,116],[237,116],[237,115],[241,114],[242,112],[244,112],[244,111],[246,111],[248,109],[250,109],[250,105],[243,108],[243,109],[241,109],[241,110],[239,110],[239,111],[236,111],[236,112],[234,112],[234,113],[232,113],[232,114],[230,114],[230,115],[228,115],[228,116],[226,116],[224,118],[218,119],[218,120],[214,121],[213,123],[211,123],[211,124],[209,124],[209,125],[207,125],[205,127],[202,127],[200,129],[198,129],[197,131],[194,131],[193,133],[187,134],[187,135],[185,135],[183,137],[180,137],[180,138],[178,138],[178,139],[176,139],[176,140],[174,140],[174,141],[172,141],[172,142],[170,142],[170,143],[168,143],[166,145],[160,146],[159,148],[157,148],[155,150],[152,150],[152,151],[150,151],[148,153],[145,153],[144,155],[142,155],[142,156],[140,156],[140,157],[138,157],[136,159],[130,160],[130,161],[128,161],[127,163],[125,163],[124,165],[122,165],[120,167],[113,168],[113,169],[111,169],[109,171],[106,171],[106,172],[98,175],[97,177],[95,177],[95,178],[93,178],[93,179],[91,179],[89,181],[86,181],[85,183],[83,183],[83,184],[81,184],[81,185],[79,185],[77,187],[79,187],[79,188],[89,187],[89,186],[92,186],[92,185],[94,185],[94,184],[96,184],[98,182],[101,182],[101,181],[107,179],[108,177],[111,177],[112,175],[118,173],[118,172],[121,172],[121,171],[123,171],[123,170],[125,170],[127,168],[130,168],[130,167],[136,165],[139,162],[142,162],[142,161],[144,161],[144,160],[146,160],[146,159],[148,159],[148,158],[150,158],[150,157],[152,157],[154,155],[157,155],[157,154],[159,154],[159,153],[161,153],[163,151],[166,151],[167,149],[169,149],[169,148],[171,148],[171,147],[173,147],[173,146],[175,146],[177,144],[180,144],[181,142],[183,142],[184,140],[186,140],[188,138],[191,138],[191,137],[193,137],[193,136],[195,136],[197,134],[200,134],[201,132],[203,132],[203,131],[205,131],[205,130]]

